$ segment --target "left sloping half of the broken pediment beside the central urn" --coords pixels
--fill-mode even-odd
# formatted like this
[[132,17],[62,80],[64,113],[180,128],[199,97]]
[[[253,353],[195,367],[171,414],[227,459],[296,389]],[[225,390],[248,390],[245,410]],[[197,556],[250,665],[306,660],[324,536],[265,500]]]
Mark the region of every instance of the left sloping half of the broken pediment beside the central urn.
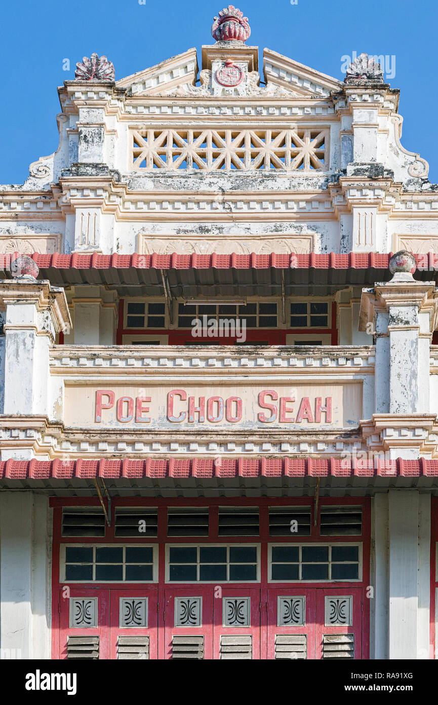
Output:
[[180,87],[194,85],[198,74],[196,49],[171,56],[144,71],[132,73],[116,82],[132,95],[156,95],[174,92]]

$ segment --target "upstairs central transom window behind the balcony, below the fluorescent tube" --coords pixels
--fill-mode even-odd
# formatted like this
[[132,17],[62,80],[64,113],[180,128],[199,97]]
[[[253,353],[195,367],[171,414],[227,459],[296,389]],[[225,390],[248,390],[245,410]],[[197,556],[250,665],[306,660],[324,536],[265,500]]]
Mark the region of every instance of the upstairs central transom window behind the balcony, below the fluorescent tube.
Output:
[[246,328],[276,328],[277,304],[252,302],[247,304],[184,304],[178,305],[178,328],[192,328],[192,320],[207,316],[208,319],[246,321]]

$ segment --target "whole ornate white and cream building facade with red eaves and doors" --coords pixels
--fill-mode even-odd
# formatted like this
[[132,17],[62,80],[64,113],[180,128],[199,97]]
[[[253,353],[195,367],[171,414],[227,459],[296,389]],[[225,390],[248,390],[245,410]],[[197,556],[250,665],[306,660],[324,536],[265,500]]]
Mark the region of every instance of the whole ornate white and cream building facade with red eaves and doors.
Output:
[[0,185],[1,656],[433,659],[438,186],[379,63],[212,35]]

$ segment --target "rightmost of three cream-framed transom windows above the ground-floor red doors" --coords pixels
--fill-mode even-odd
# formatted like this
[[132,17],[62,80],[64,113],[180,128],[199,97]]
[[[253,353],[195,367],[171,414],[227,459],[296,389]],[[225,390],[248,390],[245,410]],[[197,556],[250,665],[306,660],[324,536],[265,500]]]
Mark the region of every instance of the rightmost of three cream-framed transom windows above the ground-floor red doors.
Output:
[[360,544],[270,546],[270,580],[359,580]]

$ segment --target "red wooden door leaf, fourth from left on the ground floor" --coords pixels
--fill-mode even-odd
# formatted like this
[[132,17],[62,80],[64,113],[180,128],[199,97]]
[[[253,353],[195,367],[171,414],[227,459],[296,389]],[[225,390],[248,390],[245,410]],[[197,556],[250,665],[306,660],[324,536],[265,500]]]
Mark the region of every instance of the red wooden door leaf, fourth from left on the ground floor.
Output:
[[213,658],[260,658],[260,589],[216,589]]

